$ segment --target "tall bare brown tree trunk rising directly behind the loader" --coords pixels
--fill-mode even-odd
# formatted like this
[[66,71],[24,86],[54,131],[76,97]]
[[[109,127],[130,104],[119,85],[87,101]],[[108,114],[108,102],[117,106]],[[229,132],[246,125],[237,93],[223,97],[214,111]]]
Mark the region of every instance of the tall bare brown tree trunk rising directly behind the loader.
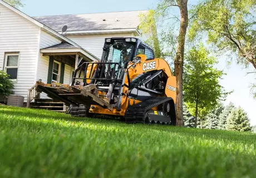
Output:
[[176,76],[176,125],[183,126],[183,60],[186,29],[188,27],[188,0],[177,0],[180,8],[180,32],[178,37],[178,47],[174,61],[174,71]]

